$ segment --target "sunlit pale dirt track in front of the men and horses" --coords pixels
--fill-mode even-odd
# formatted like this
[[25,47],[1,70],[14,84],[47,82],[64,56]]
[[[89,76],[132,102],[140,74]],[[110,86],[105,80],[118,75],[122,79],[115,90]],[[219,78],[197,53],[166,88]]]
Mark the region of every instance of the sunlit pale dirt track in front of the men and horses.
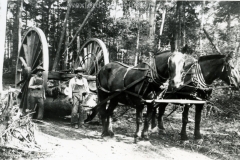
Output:
[[[101,126],[88,125],[87,129],[72,129],[69,121],[46,119],[37,123],[38,144],[48,156],[40,159],[176,159],[208,160],[210,158],[168,145],[152,136],[150,141],[133,143],[131,134],[115,134],[114,138],[101,138]],[[115,132],[119,133],[119,132]],[[176,142],[177,143],[177,142]]]

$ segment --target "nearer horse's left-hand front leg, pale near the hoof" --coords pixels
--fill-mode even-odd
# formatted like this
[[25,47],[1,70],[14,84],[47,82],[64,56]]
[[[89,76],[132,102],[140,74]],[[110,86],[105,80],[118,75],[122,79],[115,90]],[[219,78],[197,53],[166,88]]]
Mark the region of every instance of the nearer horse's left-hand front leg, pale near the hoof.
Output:
[[144,108],[144,105],[137,106],[137,108],[136,108],[136,132],[134,135],[135,143],[137,143],[137,140],[141,136],[142,129],[140,129],[140,128],[142,128],[142,123],[143,123],[143,108]]

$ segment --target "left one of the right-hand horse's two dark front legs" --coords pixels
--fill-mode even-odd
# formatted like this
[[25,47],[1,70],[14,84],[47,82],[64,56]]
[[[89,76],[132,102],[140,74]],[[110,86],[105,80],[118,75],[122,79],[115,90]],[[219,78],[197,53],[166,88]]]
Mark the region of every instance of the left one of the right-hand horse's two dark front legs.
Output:
[[188,123],[188,111],[190,105],[185,105],[183,113],[182,113],[182,130],[181,130],[181,140],[188,140],[186,128]]

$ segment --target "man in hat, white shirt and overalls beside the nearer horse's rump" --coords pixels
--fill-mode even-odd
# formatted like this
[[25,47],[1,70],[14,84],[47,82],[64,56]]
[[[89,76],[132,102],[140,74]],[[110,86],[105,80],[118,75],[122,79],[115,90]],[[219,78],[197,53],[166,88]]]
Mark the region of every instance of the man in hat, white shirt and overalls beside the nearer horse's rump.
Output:
[[[78,127],[83,128],[84,124],[84,111],[82,107],[82,101],[84,94],[89,93],[89,86],[87,79],[83,77],[85,70],[82,67],[78,67],[74,73],[75,77],[69,81],[69,98],[73,101],[71,123],[77,129]],[[79,113],[79,117],[78,117]]]

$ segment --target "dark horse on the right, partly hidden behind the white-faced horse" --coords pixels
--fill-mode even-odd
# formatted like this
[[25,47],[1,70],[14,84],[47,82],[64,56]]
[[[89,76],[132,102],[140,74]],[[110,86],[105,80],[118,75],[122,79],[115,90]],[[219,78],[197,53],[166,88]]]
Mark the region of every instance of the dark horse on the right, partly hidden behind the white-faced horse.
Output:
[[[177,91],[166,92],[164,99],[190,99],[190,100],[205,100],[210,99],[212,93],[212,87],[210,86],[214,80],[221,79],[230,86],[239,88],[239,73],[231,64],[231,55],[207,55],[202,56],[196,60],[185,61],[184,67],[185,78],[184,85]],[[158,113],[158,128],[159,131],[164,132],[163,115],[167,103],[159,103]],[[188,140],[186,133],[186,127],[188,123],[188,111],[192,104],[187,104],[184,107],[182,113],[182,129],[181,129],[181,140]],[[195,129],[194,138],[195,140],[202,139],[200,134],[200,122],[201,113],[204,104],[195,104]],[[157,107],[156,107],[157,108]],[[156,126],[155,114],[156,108],[153,111],[152,116],[152,128]]]

